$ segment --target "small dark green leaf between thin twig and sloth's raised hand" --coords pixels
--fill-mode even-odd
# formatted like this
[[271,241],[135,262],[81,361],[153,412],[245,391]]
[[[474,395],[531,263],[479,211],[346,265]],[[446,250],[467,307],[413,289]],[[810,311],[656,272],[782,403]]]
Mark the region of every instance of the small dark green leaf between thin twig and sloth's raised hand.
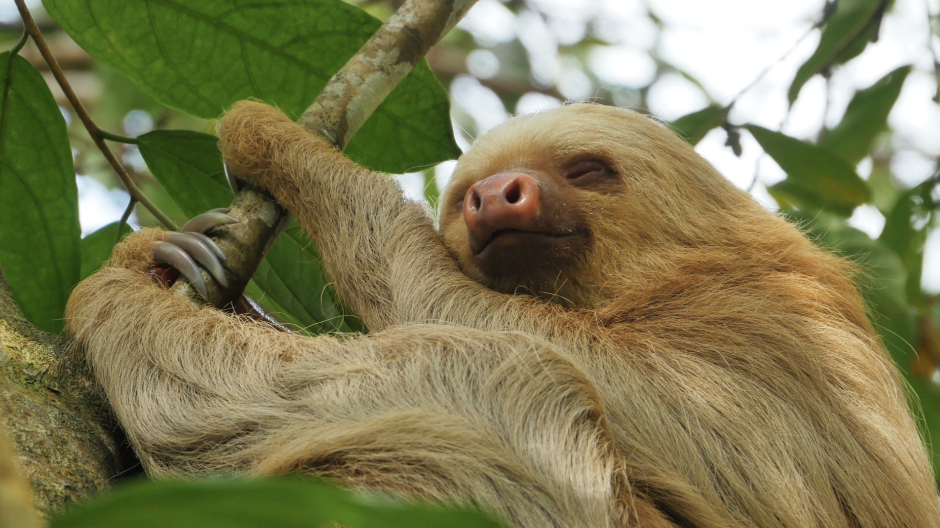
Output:
[[137,140],[150,172],[187,216],[231,204],[217,137],[191,131],[153,131]]

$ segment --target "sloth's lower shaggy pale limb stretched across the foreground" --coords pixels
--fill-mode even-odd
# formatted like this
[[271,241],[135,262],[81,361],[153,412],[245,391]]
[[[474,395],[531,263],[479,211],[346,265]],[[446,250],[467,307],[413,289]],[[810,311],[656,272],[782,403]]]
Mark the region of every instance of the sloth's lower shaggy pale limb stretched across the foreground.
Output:
[[67,312],[150,474],[310,472],[526,526],[616,524],[628,507],[597,392],[551,345],[434,325],[277,332],[154,284],[141,250],[156,236],[119,244]]

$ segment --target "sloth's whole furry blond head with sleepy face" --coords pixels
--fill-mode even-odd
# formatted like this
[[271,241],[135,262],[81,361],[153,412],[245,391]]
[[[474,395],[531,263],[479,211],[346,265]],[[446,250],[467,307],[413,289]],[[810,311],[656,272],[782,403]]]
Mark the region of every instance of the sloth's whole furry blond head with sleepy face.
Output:
[[480,137],[442,199],[441,235],[487,287],[582,304],[642,280],[657,252],[716,243],[741,208],[770,216],[666,126],[581,103]]

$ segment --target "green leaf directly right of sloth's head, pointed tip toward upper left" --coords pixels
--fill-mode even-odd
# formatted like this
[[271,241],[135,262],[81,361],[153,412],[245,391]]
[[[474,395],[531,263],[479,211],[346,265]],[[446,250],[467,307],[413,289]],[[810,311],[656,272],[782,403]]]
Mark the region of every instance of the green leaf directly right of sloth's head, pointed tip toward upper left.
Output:
[[775,198],[779,195],[784,203],[824,207],[842,215],[869,200],[865,181],[834,152],[757,125],[745,128],[787,173],[787,179],[769,189]]

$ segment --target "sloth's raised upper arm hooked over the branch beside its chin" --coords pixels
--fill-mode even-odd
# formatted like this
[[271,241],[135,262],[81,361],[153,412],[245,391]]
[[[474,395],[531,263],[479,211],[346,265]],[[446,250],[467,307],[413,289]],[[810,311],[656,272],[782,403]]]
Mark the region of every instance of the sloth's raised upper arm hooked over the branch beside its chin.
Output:
[[221,120],[219,145],[236,174],[298,218],[339,294],[371,329],[452,322],[544,335],[558,318],[576,317],[466,277],[393,179],[352,163],[268,105],[236,104]]

